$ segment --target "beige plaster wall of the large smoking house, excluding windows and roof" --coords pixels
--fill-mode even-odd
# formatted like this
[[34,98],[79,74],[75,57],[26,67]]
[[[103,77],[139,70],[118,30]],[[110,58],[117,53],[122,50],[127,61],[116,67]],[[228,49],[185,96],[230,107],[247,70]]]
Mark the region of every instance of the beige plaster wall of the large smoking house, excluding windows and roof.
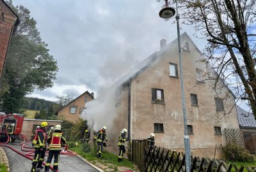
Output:
[[[189,134],[191,152],[195,156],[221,158],[221,147],[225,145],[225,128],[239,128],[237,121],[234,97],[228,94],[224,101],[225,111],[217,111],[214,97],[225,97],[227,88],[223,88],[217,96],[209,88],[212,83],[205,81],[196,83],[196,68],[205,71],[204,64],[196,62],[203,58],[196,50],[190,39],[190,52],[183,52],[183,73],[184,91],[186,98],[187,124],[193,125],[193,134]],[[183,41],[184,42],[184,41]],[[164,126],[164,133],[156,133],[156,145],[164,148],[172,148],[184,151],[184,120],[182,115],[182,102],[179,78],[169,76],[169,63],[178,65],[179,54],[177,44],[172,45],[164,52],[157,61],[145,69],[143,73],[134,78],[131,82],[131,137],[134,140],[143,140],[150,133],[154,133],[154,123],[161,123]],[[162,53],[162,52],[159,52]],[[127,87],[126,87],[127,88]],[[152,103],[151,89],[164,90],[165,104]],[[127,95],[128,90],[122,92],[124,103],[121,104],[118,114],[118,130],[111,131],[118,138],[118,131],[128,125],[127,122]],[[198,106],[191,105],[190,94],[196,94]],[[224,112],[230,111],[229,115],[223,117]],[[121,125],[120,125],[121,124]],[[221,135],[214,134],[214,126],[221,127]],[[112,133],[113,132],[113,133]]]

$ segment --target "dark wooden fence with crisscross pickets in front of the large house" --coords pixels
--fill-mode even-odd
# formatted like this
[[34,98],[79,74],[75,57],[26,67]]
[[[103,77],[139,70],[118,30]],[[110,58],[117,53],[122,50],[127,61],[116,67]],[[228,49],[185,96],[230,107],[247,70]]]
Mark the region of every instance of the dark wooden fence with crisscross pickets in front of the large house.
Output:
[[[148,148],[147,140],[132,140],[132,162],[138,166],[140,171],[186,171],[185,155],[165,148]],[[248,172],[256,171],[246,167]],[[242,172],[244,166],[237,168],[229,164],[225,166],[222,161],[216,159],[199,159],[191,157],[191,171],[196,172]]]

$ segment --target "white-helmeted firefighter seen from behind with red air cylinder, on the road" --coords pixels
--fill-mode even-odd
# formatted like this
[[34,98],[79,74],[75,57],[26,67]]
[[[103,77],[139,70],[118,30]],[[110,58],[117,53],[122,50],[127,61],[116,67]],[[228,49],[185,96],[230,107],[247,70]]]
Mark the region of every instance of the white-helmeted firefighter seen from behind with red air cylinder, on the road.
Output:
[[58,172],[58,165],[60,162],[61,146],[65,147],[66,140],[61,132],[61,125],[56,125],[51,136],[47,139],[49,147],[49,155],[45,164],[45,172],[49,172],[52,157],[54,156],[53,171]]

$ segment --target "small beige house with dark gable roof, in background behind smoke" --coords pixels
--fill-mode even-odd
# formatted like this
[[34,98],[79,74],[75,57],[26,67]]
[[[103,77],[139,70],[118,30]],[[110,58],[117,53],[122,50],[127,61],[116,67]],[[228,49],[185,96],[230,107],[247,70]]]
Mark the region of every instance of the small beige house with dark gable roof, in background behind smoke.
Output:
[[63,106],[56,112],[58,117],[63,117],[66,120],[70,122],[76,122],[81,112],[86,108],[86,103],[88,101],[92,101],[94,99],[94,93],[91,94],[86,91],[80,96],[78,96],[76,99],[72,100],[70,103],[68,103],[66,106]]

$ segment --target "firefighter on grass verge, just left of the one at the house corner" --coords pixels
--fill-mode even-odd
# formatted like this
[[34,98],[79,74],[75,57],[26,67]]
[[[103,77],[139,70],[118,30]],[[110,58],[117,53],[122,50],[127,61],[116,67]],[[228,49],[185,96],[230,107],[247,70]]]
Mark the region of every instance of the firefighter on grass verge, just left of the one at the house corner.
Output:
[[107,144],[105,142],[108,141],[106,131],[107,127],[103,126],[94,136],[94,140],[96,140],[98,144],[97,158],[101,157],[103,146],[107,147]]

